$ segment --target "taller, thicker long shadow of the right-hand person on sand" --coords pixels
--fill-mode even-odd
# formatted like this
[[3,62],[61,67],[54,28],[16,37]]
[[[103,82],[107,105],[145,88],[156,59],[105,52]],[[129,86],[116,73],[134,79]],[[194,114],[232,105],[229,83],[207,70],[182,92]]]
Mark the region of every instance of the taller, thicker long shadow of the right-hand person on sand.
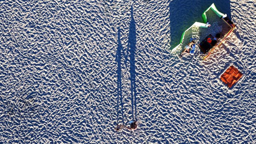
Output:
[[[133,18],[133,6],[131,7],[131,23],[128,37],[128,49],[130,48],[130,80],[131,80],[131,100],[132,100],[132,115],[136,117],[136,72],[135,72],[135,51],[136,51],[136,23]],[[135,113],[133,113],[133,107]],[[134,116],[133,116],[134,119]]]

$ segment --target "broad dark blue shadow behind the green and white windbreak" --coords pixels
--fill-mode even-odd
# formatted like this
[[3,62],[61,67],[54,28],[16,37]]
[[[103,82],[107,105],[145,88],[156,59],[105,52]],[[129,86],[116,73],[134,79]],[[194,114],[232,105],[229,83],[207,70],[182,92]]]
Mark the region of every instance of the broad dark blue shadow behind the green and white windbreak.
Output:
[[171,49],[179,44],[182,33],[194,22],[203,22],[201,14],[212,3],[220,12],[226,13],[231,18],[230,0],[192,0],[185,3],[177,0],[169,1]]

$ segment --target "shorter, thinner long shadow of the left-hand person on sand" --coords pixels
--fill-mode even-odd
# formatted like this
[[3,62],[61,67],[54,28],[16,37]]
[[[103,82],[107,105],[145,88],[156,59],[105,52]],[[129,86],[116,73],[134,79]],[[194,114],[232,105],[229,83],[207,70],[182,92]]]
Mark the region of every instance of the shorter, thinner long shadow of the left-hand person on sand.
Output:
[[[117,61],[117,124],[119,120],[119,104],[121,104],[121,113],[122,113],[122,119],[124,122],[123,118],[123,95],[122,95],[122,74],[121,74],[121,59],[122,59],[122,54],[121,51],[123,50],[123,46],[120,40],[120,29],[118,29],[118,34],[117,34],[117,40],[118,40],[118,47],[116,51],[116,61]],[[119,102],[120,99],[120,102]]]

